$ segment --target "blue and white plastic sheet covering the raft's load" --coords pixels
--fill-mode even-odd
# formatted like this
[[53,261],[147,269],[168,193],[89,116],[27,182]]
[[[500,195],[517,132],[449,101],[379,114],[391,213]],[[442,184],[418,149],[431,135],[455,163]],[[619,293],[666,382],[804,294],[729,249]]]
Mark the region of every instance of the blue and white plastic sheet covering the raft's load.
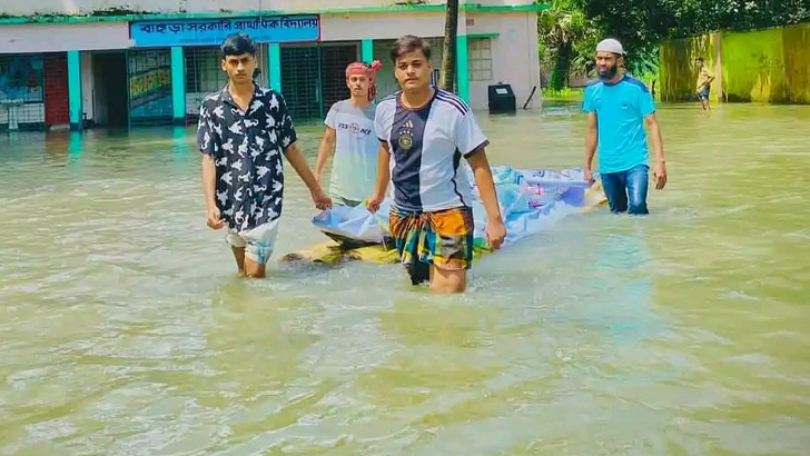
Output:
[[[549,229],[561,218],[579,210],[585,204],[591,182],[584,180],[582,169],[544,170],[514,169],[507,166],[492,168],[501,216],[506,225],[504,246]],[[467,170],[467,172],[470,172]],[[475,182],[472,178],[471,182]],[[472,202],[475,239],[486,238],[486,211],[472,185],[476,199]],[[376,214],[365,206],[335,206],[313,218],[319,230],[345,239],[382,244],[389,236],[386,199]]]

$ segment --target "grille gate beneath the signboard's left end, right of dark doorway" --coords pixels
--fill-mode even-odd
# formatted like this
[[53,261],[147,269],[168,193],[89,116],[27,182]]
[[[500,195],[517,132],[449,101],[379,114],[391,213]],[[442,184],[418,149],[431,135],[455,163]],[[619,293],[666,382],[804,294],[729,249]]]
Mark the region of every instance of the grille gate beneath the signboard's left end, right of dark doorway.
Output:
[[127,51],[129,123],[170,123],[171,54],[168,49]]

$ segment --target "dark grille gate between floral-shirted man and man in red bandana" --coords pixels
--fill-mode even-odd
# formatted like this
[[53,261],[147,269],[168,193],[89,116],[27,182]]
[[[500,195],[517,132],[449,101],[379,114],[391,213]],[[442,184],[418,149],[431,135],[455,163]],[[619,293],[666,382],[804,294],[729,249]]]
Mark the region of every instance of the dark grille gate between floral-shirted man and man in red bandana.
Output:
[[281,47],[281,93],[296,122],[318,122],[333,103],[348,98],[346,66],[359,59],[359,44]]

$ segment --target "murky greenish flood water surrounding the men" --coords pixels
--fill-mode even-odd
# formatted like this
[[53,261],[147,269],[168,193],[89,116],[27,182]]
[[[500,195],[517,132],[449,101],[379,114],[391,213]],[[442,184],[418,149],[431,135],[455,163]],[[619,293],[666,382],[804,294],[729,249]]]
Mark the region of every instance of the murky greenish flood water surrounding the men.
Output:
[[[660,119],[652,216],[566,218],[454,297],[279,264],[326,240],[288,165],[236,278],[192,128],[1,135],[0,454],[810,454],[810,107]],[[582,163],[563,107],[480,120],[493,163]]]

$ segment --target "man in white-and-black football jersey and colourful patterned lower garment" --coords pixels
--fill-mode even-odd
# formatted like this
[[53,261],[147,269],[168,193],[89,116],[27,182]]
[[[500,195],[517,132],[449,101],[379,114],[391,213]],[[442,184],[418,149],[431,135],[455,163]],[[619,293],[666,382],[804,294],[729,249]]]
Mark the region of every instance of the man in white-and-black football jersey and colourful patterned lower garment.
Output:
[[461,293],[474,242],[473,195],[462,158],[472,167],[486,209],[487,244],[498,249],[506,237],[484,151],[488,140],[467,103],[429,85],[427,41],[399,38],[391,60],[402,90],[377,106],[374,125],[382,147],[367,207],[378,210],[393,182],[391,235],[412,284],[429,280],[433,290]]

